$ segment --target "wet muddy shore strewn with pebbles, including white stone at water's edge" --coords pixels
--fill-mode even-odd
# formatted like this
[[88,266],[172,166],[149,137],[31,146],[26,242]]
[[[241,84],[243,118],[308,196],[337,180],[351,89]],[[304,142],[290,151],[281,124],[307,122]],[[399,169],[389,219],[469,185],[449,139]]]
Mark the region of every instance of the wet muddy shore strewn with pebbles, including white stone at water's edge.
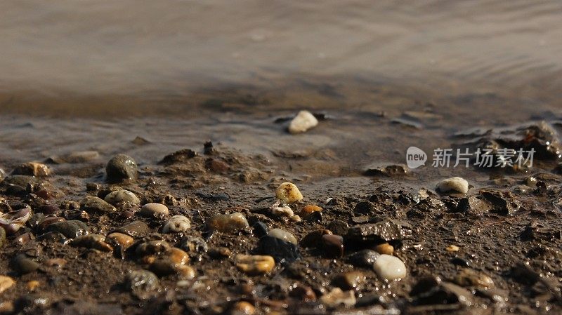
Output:
[[[313,118],[299,114],[291,132],[315,126]],[[512,250],[533,250],[530,259],[559,266],[559,226],[532,220],[544,215],[560,222],[559,215],[537,209],[536,201],[509,190],[472,189],[460,177],[442,180],[435,191],[381,186],[368,195],[314,200],[292,182],[263,185],[266,175],[240,171],[240,160],[210,143],[203,156],[184,149],[156,169],[118,154],[103,179],[86,178],[81,190],[72,180],[71,189],[61,188],[65,179],[47,164],[15,167],[1,182],[0,313],[142,314],[138,305],[147,314],[560,310],[559,283],[544,279],[562,276],[558,267],[537,270],[535,260],[509,248],[507,258],[478,257],[497,250],[494,237],[516,229],[488,232],[478,243],[483,217],[507,224],[514,213],[528,212],[516,237],[532,243]],[[207,186],[192,176],[197,172],[212,173]],[[188,178],[171,180],[171,193],[159,185],[170,174]],[[233,192],[247,187],[243,201],[221,191],[221,177],[240,183]],[[560,179],[546,177],[525,178],[528,189],[519,192],[550,200],[558,191],[544,182]],[[500,270],[506,259],[517,261]],[[521,287],[525,296],[510,293]],[[518,304],[509,304],[510,294]]]

